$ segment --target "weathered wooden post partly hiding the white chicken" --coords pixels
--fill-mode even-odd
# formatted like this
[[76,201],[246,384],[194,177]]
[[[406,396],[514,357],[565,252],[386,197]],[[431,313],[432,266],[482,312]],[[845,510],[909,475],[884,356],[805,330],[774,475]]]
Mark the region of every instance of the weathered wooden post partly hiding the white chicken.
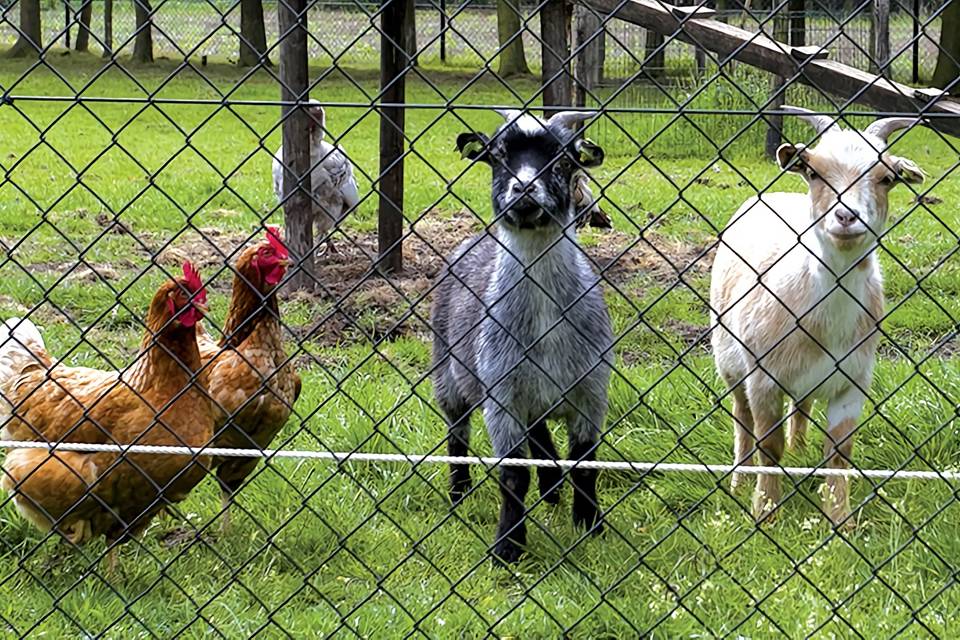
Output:
[[[280,100],[283,106],[284,241],[293,262],[288,290],[312,291],[316,283],[313,246],[313,198],[310,186],[307,0],[277,3],[280,41]],[[289,104],[297,103],[297,104]]]

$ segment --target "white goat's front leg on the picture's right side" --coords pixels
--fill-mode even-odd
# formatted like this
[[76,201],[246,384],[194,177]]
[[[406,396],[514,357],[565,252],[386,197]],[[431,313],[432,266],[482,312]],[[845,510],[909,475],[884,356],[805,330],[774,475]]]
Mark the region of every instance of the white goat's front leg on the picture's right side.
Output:
[[[846,469],[853,453],[856,431],[866,398],[852,387],[830,400],[827,406],[827,435],[823,441],[823,457],[830,469]],[[831,476],[823,487],[823,509],[835,526],[853,526],[850,520],[850,480]]]

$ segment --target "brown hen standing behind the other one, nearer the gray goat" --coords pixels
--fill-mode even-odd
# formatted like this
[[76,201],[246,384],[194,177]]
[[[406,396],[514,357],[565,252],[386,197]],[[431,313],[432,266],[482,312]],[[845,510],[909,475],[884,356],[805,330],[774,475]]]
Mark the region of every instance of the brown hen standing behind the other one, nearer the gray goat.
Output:
[[[237,259],[223,338],[215,342],[201,329],[201,358],[214,407],[220,410],[217,447],[266,449],[300,396],[300,376],[283,350],[277,303],[277,285],[288,264],[279,231],[268,227],[266,239]],[[223,492],[224,530],[229,528],[233,496],[257,460],[214,458]]]

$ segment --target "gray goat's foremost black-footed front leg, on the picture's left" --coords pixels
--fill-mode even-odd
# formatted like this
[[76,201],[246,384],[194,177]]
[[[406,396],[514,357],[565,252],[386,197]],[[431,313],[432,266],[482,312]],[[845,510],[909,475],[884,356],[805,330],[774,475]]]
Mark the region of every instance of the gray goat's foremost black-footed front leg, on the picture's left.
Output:
[[[489,404],[494,404],[490,401]],[[525,458],[527,429],[500,407],[484,408],[484,420],[497,458]],[[527,544],[524,500],[530,488],[528,467],[500,467],[500,523],[493,554],[505,563],[520,560]]]

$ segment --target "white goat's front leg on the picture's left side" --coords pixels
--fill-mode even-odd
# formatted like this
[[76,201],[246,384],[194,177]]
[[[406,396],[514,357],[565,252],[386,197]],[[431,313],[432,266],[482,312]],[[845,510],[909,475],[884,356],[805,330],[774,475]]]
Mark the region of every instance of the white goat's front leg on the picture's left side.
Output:
[[[758,397],[759,396],[759,397]],[[760,453],[760,464],[774,467],[783,457],[783,394],[770,389],[751,394],[753,429]],[[760,474],[753,494],[753,516],[757,521],[766,519],[780,502],[780,476]]]

